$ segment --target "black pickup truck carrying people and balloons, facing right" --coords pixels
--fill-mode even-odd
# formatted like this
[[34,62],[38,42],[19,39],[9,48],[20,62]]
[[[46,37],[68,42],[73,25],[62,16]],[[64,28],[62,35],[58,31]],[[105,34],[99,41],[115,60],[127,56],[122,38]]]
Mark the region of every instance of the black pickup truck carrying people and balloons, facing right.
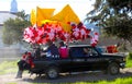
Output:
[[[30,72],[45,74],[48,79],[56,79],[63,72],[105,71],[110,74],[118,74],[120,68],[125,67],[125,57],[118,53],[100,53],[96,47],[89,45],[69,46],[69,56],[62,58],[34,59],[34,68]],[[89,53],[84,52],[84,48]]]

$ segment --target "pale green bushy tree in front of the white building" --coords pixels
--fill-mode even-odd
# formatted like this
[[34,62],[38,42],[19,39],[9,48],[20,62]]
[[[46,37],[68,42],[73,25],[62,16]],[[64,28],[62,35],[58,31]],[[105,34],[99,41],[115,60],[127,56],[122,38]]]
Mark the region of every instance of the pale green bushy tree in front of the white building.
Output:
[[23,29],[31,25],[31,23],[25,20],[26,14],[23,11],[16,13],[16,15],[18,17],[15,20],[9,19],[3,24],[2,39],[7,45],[22,41]]

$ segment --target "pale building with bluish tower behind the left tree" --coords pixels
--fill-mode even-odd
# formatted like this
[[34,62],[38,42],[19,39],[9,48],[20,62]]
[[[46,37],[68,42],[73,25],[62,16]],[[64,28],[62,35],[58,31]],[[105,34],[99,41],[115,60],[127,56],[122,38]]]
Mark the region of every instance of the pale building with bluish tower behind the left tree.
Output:
[[2,41],[2,29],[3,24],[9,19],[18,17],[15,14],[18,13],[18,3],[15,0],[11,1],[10,11],[0,11],[0,58],[8,58],[12,56],[18,56],[18,50],[14,47],[8,47]]

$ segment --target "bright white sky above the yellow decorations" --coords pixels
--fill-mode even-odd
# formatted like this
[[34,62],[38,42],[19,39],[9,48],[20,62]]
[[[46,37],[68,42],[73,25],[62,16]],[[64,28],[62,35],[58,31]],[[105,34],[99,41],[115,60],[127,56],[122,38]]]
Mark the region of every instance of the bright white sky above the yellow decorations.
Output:
[[[10,11],[12,0],[0,0],[0,11]],[[18,10],[24,10],[26,14],[32,9],[46,8],[55,9],[55,14],[59,12],[66,4],[69,4],[78,17],[82,21],[86,14],[94,9],[95,0],[16,0]]]

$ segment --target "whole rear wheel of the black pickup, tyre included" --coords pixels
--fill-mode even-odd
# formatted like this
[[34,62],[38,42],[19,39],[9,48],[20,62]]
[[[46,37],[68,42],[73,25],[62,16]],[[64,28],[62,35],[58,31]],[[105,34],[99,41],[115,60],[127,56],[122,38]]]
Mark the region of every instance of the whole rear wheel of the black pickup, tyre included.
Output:
[[57,79],[59,74],[58,68],[56,67],[50,67],[45,73],[47,79]]

